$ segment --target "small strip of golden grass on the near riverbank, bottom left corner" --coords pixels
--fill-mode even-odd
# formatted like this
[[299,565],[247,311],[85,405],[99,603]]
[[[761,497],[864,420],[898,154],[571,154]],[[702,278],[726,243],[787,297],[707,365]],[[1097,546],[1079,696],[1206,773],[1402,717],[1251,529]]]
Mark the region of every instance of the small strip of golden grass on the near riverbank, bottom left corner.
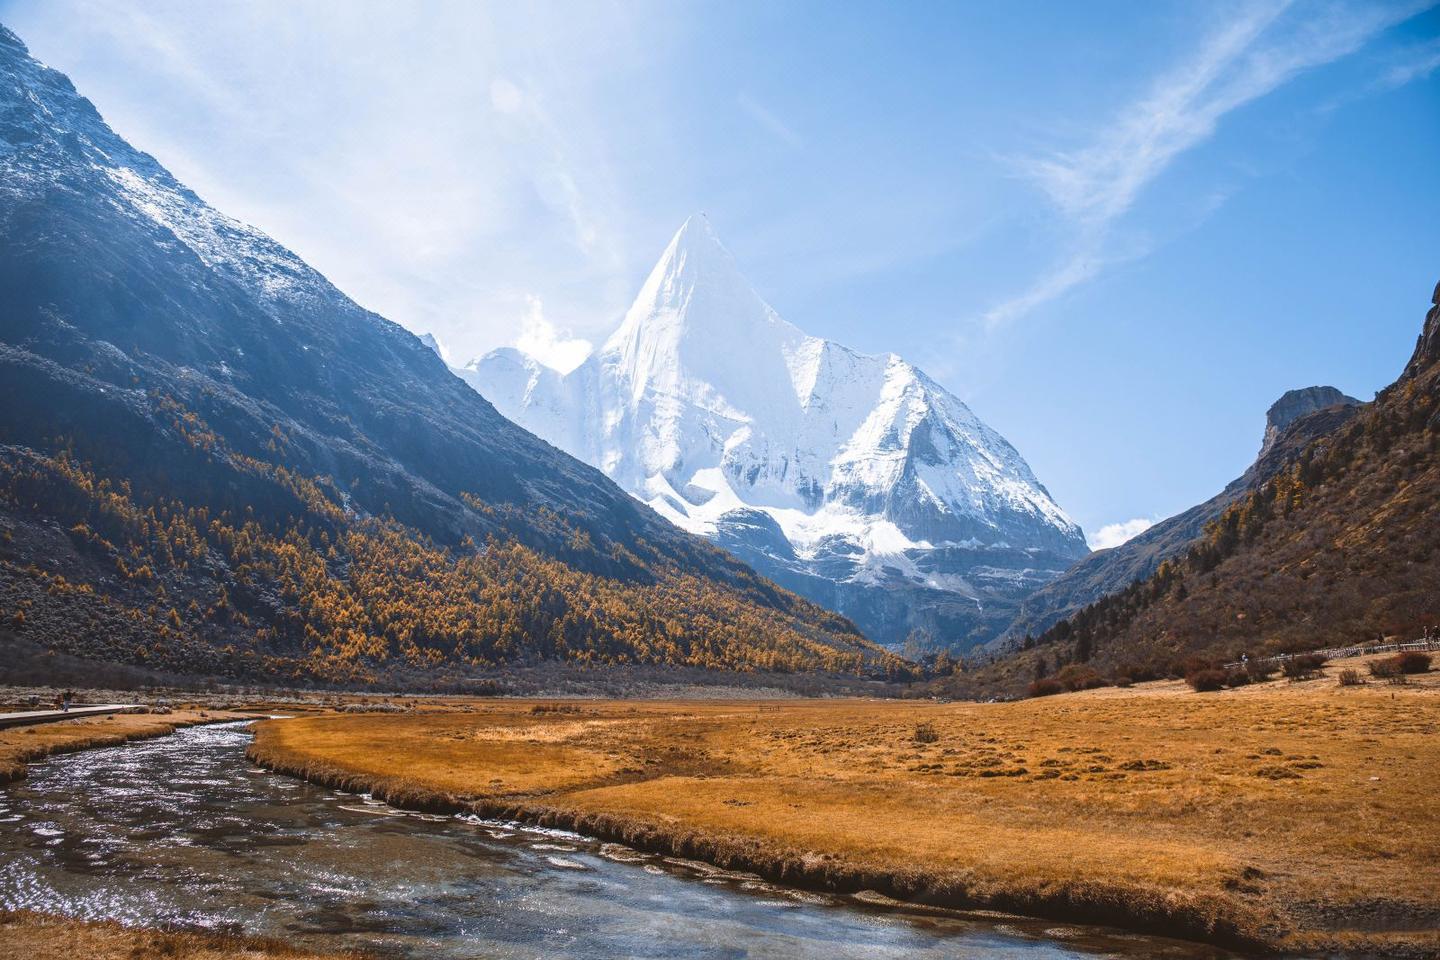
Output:
[[0,911],[0,960],[321,960],[279,943],[213,933],[135,930],[117,923]]

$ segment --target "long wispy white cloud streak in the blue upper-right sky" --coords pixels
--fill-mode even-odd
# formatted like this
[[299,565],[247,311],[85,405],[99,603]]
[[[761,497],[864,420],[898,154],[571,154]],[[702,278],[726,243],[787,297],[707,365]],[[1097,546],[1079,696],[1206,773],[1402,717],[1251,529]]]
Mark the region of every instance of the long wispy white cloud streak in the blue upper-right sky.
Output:
[[[1430,4],[1293,6],[1276,0],[1247,7],[1214,29],[1143,96],[1117,111],[1089,144],[1017,164],[1020,176],[1050,200],[1067,239],[1053,269],[985,311],[985,330],[998,330],[1058,299],[1109,266],[1145,256],[1151,240],[1132,236],[1117,242],[1116,233],[1178,157],[1214,137],[1233,111],[1359,50]],[[1434,52],[1423,50],[1392,71],[1390,85],[1418,79],[1434,68]]]

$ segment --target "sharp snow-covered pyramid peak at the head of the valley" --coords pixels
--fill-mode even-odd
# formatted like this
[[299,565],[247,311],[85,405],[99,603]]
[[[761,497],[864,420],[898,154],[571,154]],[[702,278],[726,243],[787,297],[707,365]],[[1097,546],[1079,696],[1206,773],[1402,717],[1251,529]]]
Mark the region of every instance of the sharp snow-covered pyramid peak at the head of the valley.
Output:
[[455,373],[671,522],[881,642],[985,642],[1087,553],[999,433],[903,358],[782,320],[703,216],[569,374],[514,348]]

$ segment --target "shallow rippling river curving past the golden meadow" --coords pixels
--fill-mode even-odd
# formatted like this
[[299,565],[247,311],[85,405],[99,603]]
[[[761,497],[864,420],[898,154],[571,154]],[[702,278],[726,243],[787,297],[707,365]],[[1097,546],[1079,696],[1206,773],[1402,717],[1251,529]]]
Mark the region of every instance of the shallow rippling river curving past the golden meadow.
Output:
[[32,764],[0,789],[0,907],[397,957],[1230,954],[792,891],[572,833],[402,813],[245,760],[243,725]]

